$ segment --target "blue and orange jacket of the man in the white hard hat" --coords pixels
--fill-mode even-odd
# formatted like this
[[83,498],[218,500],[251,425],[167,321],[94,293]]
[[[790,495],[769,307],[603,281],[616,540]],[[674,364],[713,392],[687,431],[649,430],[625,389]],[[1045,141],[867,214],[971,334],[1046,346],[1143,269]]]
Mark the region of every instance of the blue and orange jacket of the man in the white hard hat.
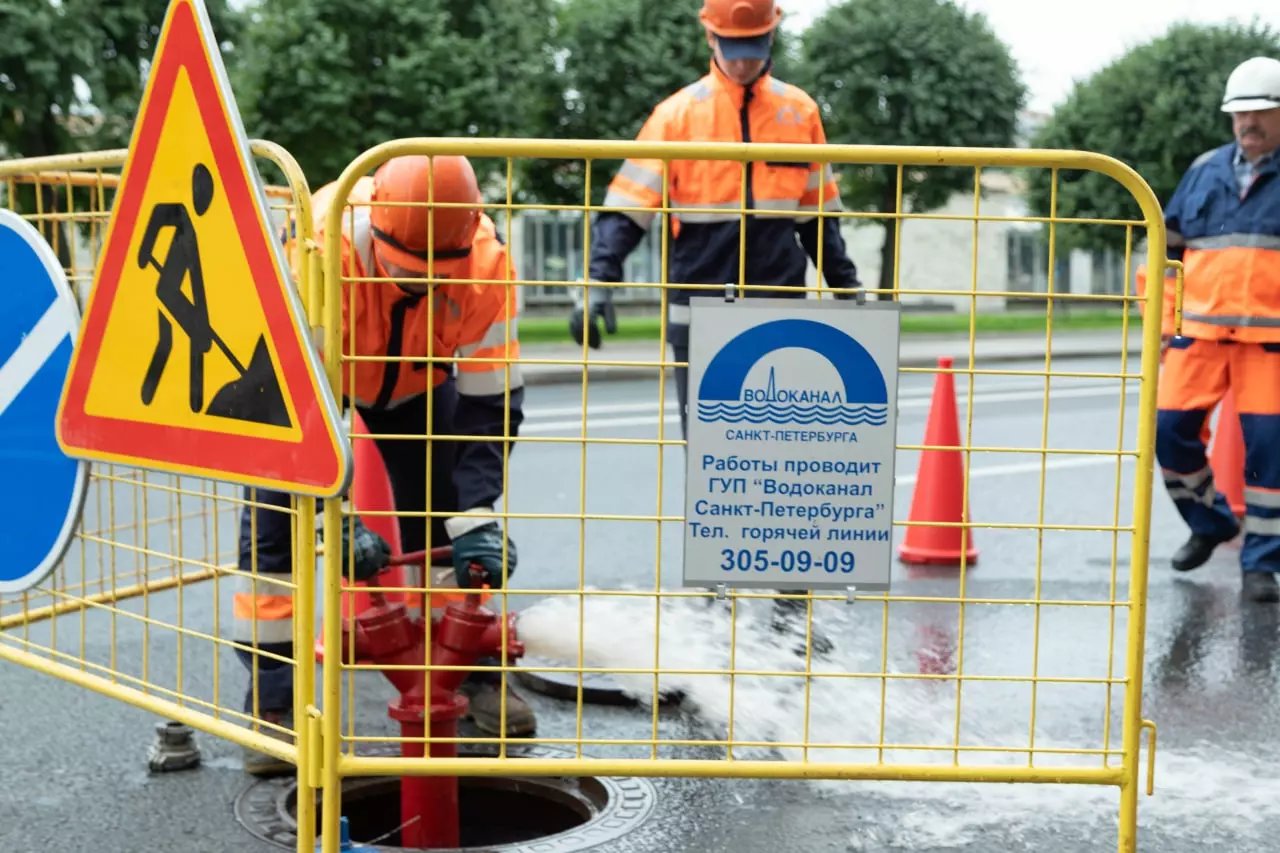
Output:
[[[1280,158],[1243,191],[1235,142],[1192,163],[1165,206],[1167,256],[1183,261],[1183,336],[1280,341]],[[1146,293],[1147,270],[1138,269]],[[1165,283],[1161,330],[1174,334],[1175,288]]]

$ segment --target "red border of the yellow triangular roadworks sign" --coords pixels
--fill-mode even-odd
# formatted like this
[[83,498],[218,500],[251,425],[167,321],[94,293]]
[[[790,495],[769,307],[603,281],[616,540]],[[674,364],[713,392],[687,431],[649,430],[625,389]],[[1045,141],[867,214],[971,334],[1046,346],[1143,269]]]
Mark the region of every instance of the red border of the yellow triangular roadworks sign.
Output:
[[[301,346],[310,346],[310,341],[305,336],[300,338],[289,305],[279,289],[275,257],[265,242],[269,237],[260,224],[252,182],[227,108],[219,96],[201,24],[191,3],[177,0],[174,5],[151,68],[147,96],[111,211],[101,270],[95,280],[96,292],[73,355],[59,416],[59,441],[69,452],[91,459],[102,456],[111,461],[173,470],[191,476],[332,494],[342,487],[346,474],[343,469],[349,466],[343,464],[344,453],[330,434],[325,418],[326,406],[311,378],[306,355],[300,350]],[[302,433],[300,443],[102,418],[84,410],[120,273],[127,261],[133,229],[138,227],[142,197],[182,68],[187,69],[214,163],[223,179],[220,190],[227,195],[250,272],[259,287],[262,313],[279,359],[280,386],[293,402]]]

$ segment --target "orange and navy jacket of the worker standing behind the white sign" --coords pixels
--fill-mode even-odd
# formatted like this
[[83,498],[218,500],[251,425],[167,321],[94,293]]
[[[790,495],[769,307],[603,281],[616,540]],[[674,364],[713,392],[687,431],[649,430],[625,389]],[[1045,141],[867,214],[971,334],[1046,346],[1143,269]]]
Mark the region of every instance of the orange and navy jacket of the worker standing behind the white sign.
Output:
[[[666,99],[636,137],[641,141],[717,141],[826,143],[818,105],[769,69],[748,87],[739,86],[712,59],[710,73]],[[667,280],[712,284],[721,291],[739,280],[742,167],[733,160],[676,160],[668,177],[671,251]],[[621,282],[622,264],[644,237],[663,201],[662,160],[630,159],[618,170],[604,199],[607,207],[591,237],[589,278]],[[808,259],[818,259],[819,204],[841,210],[831,167],[817,163],[751,163],[746,173],[746,207],[769,211],[746,216],[746,284],[778,286],[758,296],[796,296],[805,286]],[[696,209],[731,209],[700,213]],[[781,214],[781,215],[780,215]],[[833,288],[856,288],[858,270],[845,250],[837,218],[823,218],[823,275]],[[748,292],[748,295],[753,295]],[[690,291],[672,289],[669,318],[687,318]],[[687,323],[687,319],[684,321]],[[673,341],[675,342],[675,341]]]

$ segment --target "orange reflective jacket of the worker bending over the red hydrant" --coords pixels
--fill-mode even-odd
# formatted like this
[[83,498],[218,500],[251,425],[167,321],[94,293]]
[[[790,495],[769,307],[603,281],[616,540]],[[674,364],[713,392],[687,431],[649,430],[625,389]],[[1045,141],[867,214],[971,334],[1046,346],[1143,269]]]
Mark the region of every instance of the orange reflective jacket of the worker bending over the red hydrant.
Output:
[[[319,192],[317,192],[319,195]],[[316,240],[324,241],[328,205],[314,210]],[[374,251],[369,207],[343,213],[342,353],[344,356],[457,357],[457,362],[355,361],[342,366],[342,392],[361,409],[387,409],[454,382],[452,423],[435,421],[440,434],[517,434],[524,419],[524,379],[518,364],[515,269],[492,219],[480,227],[466,257],[436,261],[442,282],[430,295],[411,293],[390,282]],[[509,359],[468,361],[467,359]],[[508,402],[509,401],[509,402]],[[458,510],[492,506],[502,494],[500,442],[458,442],[454,482]]]

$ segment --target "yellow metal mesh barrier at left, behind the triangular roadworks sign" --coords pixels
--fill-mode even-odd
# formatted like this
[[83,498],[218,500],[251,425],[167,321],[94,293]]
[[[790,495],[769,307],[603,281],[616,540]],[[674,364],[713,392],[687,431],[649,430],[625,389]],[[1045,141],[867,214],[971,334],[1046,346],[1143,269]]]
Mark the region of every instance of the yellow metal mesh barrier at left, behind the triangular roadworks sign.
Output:
[[[266,188],[273,215],[283,227],[301,210],[300,233],[308,240],[310,190],[301,169],[274,143],[255,141],[252,150],[288,181]],[[41,229],[82,305],[127,155],[114,150],[0,161],[5,206]],[[319,279],[311,275],[310,254],[300,259],[296,273],[300,282],[312,284],[302,297],[317,311]],[[293,726],[268,721],[256,689],[250,707],[243,707],[250,674],[236,654],[297,667],[298,694],[312,695],[310,643],[297,654],[268,654],[255,648],[256,638],[228,630],[234,588],[244,579],[266,583],[256,578],[256,553],[248,555],[248,573],[239,569],[237,553],[242,510],[255,503],[224,483],[91,466],[84,515],[63,562],[37,588],[0,596],[0,660],[297,762],[298,747],[291,740],[305,717],[296,715]],[[312,530],[315,502],[294,503],[288,512],[301,529]],[[312,535],[300,537],[298,553],[315,564]],[[314,573],[297,578],[278,594],[314,601]],[[211,583],[196,587],[202,581]],[[308,638],[312,610],[300,608],[297,626]],[[310,802],[302,803],[300,817],[310,815]]]

